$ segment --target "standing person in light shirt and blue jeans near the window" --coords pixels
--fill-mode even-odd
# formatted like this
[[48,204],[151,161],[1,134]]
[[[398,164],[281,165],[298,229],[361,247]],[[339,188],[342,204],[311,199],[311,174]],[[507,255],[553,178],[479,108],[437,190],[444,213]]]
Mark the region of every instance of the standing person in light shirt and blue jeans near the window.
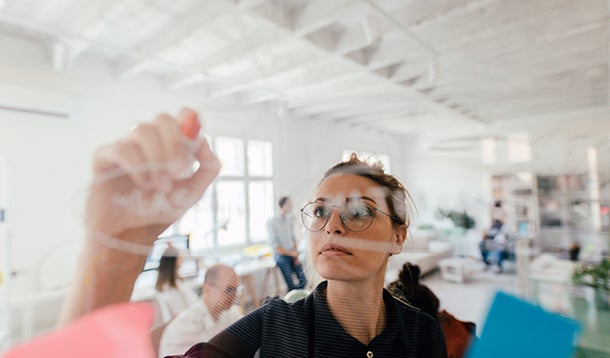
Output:
[[279,213],[267,222],[273,257],[286,281],[288,291],[304,289],[307,279],[299,261],[295,217],[291,214],[292,201],[289,197],[282,196],[278,205]]

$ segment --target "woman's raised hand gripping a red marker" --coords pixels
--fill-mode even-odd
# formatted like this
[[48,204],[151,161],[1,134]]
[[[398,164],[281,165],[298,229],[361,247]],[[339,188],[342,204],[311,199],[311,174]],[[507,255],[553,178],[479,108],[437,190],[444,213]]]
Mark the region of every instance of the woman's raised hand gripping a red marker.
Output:
[[88,237],[151,245],[195,204],[220,170],[200,127],[197,113],[182,109],[100,148],[87,198]]

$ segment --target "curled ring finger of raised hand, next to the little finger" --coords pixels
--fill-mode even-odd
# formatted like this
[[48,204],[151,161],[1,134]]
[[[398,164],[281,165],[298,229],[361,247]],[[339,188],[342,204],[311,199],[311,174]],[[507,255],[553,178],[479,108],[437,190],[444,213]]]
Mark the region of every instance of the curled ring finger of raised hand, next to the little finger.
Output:
[[154,186],[162,189],[164,187],[162,169],[163,165],[167,164],[168,158],[159,128],[151,123],[142,123],[129,133],[129,138],[138,144],[144,162],[148,164],[142,170],[148,171]]

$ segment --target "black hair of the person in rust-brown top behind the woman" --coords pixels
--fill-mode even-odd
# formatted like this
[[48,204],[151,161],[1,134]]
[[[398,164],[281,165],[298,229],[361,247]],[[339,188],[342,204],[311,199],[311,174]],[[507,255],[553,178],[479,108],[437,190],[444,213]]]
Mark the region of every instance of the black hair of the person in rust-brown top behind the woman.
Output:
[[419,283],[419,276],[419,266],[407,262],[398,274],[398,280],[388,285],[388,291],[395,297],[436,317],[440,307],[438,297],[427,286]]

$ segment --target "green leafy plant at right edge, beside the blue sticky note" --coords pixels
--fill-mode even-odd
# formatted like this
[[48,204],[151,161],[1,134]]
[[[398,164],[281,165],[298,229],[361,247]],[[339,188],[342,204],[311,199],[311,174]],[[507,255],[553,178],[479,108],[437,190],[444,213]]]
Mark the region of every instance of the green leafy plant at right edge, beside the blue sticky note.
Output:
[[572,282],[592,287],[597,308],[610,309],[610,259],[588,262],[577,266],[572,274]]

